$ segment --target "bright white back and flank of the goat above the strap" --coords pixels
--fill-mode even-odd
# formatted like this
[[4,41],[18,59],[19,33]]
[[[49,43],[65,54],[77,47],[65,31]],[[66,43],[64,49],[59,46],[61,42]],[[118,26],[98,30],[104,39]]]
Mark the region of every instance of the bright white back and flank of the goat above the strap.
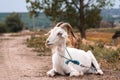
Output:
[[[73,60],[78,60],[80,64],[90,67],[91,66],[91,54],[89,52],[85,52],[84,50],[69,48],[67,47],[68,52],[66,51],[66,57],[70,59],[70,56]],[[70,56],[69,56],[70,54]]]

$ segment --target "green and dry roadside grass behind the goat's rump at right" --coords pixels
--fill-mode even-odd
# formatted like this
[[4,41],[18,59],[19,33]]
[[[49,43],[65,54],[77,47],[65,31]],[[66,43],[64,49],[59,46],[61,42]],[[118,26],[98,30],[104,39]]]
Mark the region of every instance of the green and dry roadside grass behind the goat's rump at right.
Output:
[[101,66],[105,69],[120,70],[120,48],[113,50],[106,49],[99,45],[91,46],[83,44],[80,45],[80,48],[85,51],[91,50],[98,62],[101,63]]

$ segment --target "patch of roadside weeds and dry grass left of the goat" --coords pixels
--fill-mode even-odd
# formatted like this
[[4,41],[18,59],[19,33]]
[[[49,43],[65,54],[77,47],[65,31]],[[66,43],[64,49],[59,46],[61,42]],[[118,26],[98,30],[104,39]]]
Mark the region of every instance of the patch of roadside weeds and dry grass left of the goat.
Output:
[[[40,30],[32,34],[31,37],[26,40],[27,46],[34,48],[33,50],[38,52],[38,56],[51,55],[50,49],[45,46],[45,41],[47,39],[47,36],[44,35],[45,33],[47,32]],[[38,36],[36,36],[36,34]]]

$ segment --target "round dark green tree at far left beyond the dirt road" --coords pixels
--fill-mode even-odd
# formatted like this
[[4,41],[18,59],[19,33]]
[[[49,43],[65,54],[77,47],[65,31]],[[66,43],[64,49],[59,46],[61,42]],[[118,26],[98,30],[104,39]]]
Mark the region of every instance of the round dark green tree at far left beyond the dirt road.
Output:
[[11,13],[9,16],[7,16],[5,19],[5,24],[10,32],[21,31],[24,26],[18,13]]

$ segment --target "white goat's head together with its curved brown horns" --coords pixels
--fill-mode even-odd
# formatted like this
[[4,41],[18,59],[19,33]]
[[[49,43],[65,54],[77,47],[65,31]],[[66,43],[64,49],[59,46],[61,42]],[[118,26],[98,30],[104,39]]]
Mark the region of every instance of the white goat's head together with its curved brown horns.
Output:
[[72,26],[69,23],[57,23],[56,26],[48,32],[48,34],[50,35],[46,41],[47,46],[61,44],[61,42],[67,37],[67,34],[72,35],[76,39],[72,31]]

